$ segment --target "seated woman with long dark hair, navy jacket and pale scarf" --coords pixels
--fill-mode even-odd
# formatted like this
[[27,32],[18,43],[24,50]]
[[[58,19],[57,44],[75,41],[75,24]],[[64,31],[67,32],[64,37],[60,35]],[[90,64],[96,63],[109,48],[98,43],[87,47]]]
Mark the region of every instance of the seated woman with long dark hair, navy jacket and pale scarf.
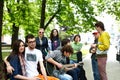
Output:
[[35,77],[26,77],[24,53],[24,42],[22,40],[15,41],[15,43],[12,46],[12,52],[7,57],[7,60],[10,62],[10,65],[14,68],[13,73],[9,74],[10,80],[37,80],[37,78]]

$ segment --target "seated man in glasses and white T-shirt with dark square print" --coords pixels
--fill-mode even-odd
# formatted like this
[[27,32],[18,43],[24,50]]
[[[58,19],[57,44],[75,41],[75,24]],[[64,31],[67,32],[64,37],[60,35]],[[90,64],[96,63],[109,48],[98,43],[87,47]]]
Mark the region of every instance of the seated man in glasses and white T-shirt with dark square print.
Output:
[[41,72],[44,76],[44,80],[47,80],[46,70],[43,65],[42,53],[36,49],[35,37],[32,34],[26,36],[27,46],[25,49],[25,61],[26,61],[26,76],[33,77],[39,75],[37,70],[37,64],[39,62]]

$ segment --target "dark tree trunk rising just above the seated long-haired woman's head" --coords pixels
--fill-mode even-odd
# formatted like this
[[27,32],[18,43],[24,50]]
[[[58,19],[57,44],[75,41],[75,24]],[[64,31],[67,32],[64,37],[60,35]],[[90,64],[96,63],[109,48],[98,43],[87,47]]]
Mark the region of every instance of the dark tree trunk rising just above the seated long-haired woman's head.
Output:
[[13,23],[13,28],[12,28],[12,44],[11,46],[13,45],[13,43],[18,39],[18,32],[19,32],[19,27],[17,27],[15,25],[15,23]]

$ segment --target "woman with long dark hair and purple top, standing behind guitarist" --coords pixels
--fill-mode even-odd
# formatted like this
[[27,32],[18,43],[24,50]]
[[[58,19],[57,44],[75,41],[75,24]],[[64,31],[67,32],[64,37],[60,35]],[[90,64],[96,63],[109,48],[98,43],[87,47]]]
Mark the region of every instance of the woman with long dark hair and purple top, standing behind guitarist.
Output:
[[52,51],[56,50],[60,46],[60,38],[57,29],[53,29],[50,34],[51,40],[51,49]]

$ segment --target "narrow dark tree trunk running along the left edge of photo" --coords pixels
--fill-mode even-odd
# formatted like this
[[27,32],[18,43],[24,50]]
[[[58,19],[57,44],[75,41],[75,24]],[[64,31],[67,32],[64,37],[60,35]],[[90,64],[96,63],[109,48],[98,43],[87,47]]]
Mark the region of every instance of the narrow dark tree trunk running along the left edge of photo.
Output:
[[4,0],[0,0],[0,63],[2,62],[1,36],[2,36],[3,6],[4,6]]

